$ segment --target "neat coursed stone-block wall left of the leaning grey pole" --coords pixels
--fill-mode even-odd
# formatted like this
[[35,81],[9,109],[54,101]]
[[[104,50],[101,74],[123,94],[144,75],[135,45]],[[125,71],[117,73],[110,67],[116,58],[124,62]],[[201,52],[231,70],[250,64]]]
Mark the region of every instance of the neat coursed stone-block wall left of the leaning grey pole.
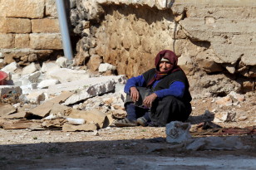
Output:
[[25,66],[62,50],[55,0],[0,0],[0,11],[2,65]]

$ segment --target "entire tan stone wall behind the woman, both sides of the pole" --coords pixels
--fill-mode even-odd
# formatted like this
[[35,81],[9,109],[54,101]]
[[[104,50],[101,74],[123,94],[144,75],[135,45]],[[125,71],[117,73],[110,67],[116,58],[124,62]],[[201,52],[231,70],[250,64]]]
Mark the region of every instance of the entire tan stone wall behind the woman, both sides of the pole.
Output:
[[[170,49],[194,94],[255,90],[256,2],[251,0],[65,1],[77,65],[102,62],[128,77]],[[62,51],[55,0],[0,0],[0,67]]]

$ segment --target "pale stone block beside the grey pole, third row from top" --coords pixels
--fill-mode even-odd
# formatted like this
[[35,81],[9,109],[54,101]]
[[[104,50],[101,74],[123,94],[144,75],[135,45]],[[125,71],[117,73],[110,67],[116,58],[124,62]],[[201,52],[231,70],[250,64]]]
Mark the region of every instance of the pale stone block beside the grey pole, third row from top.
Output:
[[59,33],[32,33],[29,36],[32,49],[62,49],[62,36]]

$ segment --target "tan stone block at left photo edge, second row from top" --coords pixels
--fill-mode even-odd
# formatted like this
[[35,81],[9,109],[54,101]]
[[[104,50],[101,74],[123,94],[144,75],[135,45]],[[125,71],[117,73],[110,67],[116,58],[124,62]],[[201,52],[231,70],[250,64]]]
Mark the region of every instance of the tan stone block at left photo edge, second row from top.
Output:
[[29,33],[31,32],[31,21],[27,18],[0,17],[0,32]]

